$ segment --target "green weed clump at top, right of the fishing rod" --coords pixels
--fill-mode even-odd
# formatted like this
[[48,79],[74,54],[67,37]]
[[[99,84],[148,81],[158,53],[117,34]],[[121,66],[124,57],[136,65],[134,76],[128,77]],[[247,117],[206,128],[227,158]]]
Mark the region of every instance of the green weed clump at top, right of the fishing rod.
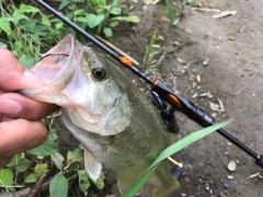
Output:
[[136,15],[123,16],[126,5],[121,0],[83,0],[76,3],[70,0],[64,0],[59,10],[66,12],[66,16],[77,23],[83,30],[90,32],[95,30],[95,34],[104,33],[105,37],[112,37],[112,28],[119,25],[119,22],[138,23],[139,18]]

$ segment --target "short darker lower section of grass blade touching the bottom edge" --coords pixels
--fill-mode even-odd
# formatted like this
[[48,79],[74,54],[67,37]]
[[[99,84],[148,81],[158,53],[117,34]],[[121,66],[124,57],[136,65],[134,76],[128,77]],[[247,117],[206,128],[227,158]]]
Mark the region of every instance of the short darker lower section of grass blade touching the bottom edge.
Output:
[[126,189],[121,197],[130,197],[135,196],[141,187],[148,182],[148,179],[151,177],[151,175],[157,170],[158,165],[150,169],[147,173],[141,175],[128,189]]

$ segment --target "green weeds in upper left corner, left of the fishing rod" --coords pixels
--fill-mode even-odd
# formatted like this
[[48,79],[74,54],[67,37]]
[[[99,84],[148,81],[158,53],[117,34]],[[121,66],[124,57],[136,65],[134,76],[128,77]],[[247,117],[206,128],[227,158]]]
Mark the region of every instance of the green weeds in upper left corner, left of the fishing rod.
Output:
[[18,8],[12,1],[3,3],[0,1],[1,46],[10,48],[26,68],[35,63],[42,49],[46,50],[66,34],[73,33],[65,30],[62,22],[52,20],[35,7],[21,3]]

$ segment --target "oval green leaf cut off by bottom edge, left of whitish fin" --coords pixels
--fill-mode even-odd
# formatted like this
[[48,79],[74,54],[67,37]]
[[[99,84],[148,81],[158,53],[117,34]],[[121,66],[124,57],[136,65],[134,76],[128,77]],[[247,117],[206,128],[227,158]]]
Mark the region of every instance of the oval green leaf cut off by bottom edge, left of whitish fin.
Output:
[[49,185],[50,197],[68,196],[68,179],[61,174],[52,179]]

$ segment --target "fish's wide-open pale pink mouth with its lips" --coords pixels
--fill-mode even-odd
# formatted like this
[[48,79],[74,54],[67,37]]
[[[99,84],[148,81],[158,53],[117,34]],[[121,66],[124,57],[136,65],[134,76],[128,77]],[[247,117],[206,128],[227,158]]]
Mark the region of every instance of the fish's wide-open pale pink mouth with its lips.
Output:
[[[66,101],[65,95],[58,96],[71,81],[81,60],[81,48],[71,35],[64,38],[54,48],[48,50],[28,71],[42,84],[35,89],[22,90],[20,93],[37,101],[60,105]],[[55,95],[50,100],[50,95]]]

